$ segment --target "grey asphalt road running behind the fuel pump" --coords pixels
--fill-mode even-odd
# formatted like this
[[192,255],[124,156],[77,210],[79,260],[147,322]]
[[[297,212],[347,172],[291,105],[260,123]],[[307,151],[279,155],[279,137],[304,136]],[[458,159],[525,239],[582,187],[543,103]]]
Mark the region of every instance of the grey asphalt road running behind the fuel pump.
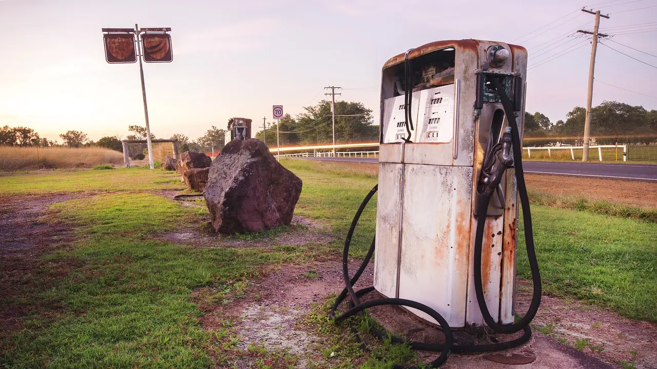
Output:
[[[308,158],[338,162],[378,163],[378,158]],[[622,179],[657,183],[655,164],[616,164],[580,162],[522,162],[525,173]]]

